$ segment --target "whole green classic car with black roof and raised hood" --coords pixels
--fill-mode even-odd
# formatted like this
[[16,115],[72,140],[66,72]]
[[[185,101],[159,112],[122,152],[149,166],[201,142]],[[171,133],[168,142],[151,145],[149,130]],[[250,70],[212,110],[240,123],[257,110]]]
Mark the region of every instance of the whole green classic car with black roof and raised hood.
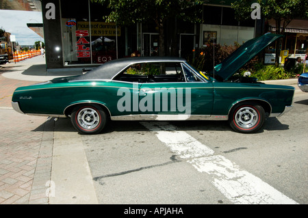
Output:
[[210,74],[177,57],[116,59],[80,76],[18,87],[12,107],[70,118],[85,134],[101,132],[109,119],[229,120],[233,130],[253,133],[266,118],[292,107],[294,87],[233,74],[279,37],[268,33],[249,40]]

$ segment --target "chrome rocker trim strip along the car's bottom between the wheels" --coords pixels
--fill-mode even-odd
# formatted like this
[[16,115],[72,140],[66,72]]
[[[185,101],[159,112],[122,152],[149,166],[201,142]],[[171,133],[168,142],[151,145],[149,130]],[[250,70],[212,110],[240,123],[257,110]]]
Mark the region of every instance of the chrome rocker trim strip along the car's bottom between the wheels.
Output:
[[111,116],[111,120],[228,120],[228,115],[136,114]]

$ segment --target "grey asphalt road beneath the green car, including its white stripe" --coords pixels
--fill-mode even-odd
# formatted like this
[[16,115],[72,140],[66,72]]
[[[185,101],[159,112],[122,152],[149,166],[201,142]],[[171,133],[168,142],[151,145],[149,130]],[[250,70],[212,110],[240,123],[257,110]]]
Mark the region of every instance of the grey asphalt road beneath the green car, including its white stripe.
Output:
[[60,119],[55,132],[78,137],[99,204],[308,204],[307,122],[308,94],[296,92],[292,111],[249,135],[205,121],[77,135]]

